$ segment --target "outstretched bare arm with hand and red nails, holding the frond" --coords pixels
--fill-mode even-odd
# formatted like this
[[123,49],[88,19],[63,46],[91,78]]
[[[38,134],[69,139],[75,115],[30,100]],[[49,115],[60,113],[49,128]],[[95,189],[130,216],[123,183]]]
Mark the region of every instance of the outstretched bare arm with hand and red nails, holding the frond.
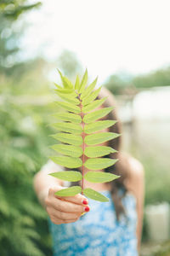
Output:
[[35,175],[33,186],[37,198],[42,204],[42,207],[48,212],[54,224],[75,222],[81,217],[82,212],[88,212],[90,210],[88,199],[81,194],[67,197],[54,195],[56,191],[64,188],[63,181],[48,175],[50,172],[61,171],[56,166],[55,164],[53,166],[53,163],[47,165],[47,168],[42,168]]

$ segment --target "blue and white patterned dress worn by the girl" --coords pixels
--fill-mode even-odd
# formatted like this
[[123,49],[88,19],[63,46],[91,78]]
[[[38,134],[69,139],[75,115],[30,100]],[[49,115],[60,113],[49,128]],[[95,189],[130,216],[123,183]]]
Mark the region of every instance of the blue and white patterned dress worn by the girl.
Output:
[[110,201],[99,202],[88,199],[90,211],[77,222],[54,224],[48,217],[52,234],[54,256],[136,256],[136,200],[127,193],[122,198],[126,217],[116,220],[111,192],[99,191]]

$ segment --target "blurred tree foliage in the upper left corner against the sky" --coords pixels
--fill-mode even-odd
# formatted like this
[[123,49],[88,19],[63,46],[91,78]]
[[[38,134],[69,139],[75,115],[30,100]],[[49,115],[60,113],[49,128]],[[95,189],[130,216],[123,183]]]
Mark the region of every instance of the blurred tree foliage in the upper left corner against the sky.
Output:
[[[0,70],[1,74],[8,76],[20,70],[22,73],[26,63],[20,62],[19,53],[20,35],[24,25],[18,22],[20,15],[31,9],[37,8],[41,3],[28,3],[27,0],[1,0],[0,1]],[[18,23],[17,23],[18,22]],[[17,30],[14,28],[17,26]],[[18,79],[18,77],[17,77]],[[2,82],[2,81],[1,81]]]

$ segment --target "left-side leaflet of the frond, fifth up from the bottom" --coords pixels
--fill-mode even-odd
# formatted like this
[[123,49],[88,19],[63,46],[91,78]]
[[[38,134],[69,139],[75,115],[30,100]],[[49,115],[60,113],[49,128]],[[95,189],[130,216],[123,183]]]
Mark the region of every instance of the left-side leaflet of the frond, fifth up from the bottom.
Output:
[[76,146],[82,145],[82,136],[59,132],[57,134],[51,135],[51,137],[54,137],[62,143],[68,143]]

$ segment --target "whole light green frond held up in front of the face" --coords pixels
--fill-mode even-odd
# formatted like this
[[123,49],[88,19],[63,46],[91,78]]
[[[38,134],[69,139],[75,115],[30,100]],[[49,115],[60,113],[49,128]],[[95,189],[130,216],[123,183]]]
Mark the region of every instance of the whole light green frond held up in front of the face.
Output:
[[[67,168],[78,168],[82,166],[82,175],[78,176],[77,172],[74,171],[56,172],[54,174],[52,173],[51,175],[67,181],[82,180],[82,194],[87,195],[88,197],[97,201],[108,201],[104,195],[94,191],[94,189],[84,189],[83,179],[85,178],[92,183],[105,183],[114,180],[119,176],[111,173],[101,172],[88,172],[84,176],[83,168],[87,167],[88,170],[104,169],[114,165],[117,161],[116,159],[97,158],[99,156],[110,154],[111,152],[116,152],[114,148],[106,146],[85,147],[85,143],[87,146],[96,145],[120,136],[114,132],[95,133],[96,131],[104,130],[116,124],[116,120],[98,120],[110,113],[113,107],[95,110],[96,108],[99,108],[103,102],[105,102],[107,97],[100,100],[95,100],[99,95],[101,86],[99,89],[94,90],[97,79],[95,79],[92,84],[87,86],[87,69],[81,82],[77,76],[75,85],[73,85],[65,76],[63,76],[60,71],[59,75],[62,80],[63,87],[57,84],[58,90],[55,90],[55,92],[62,100],[66,102],[56,103],[59,107],[64,108],[68,112],[56,113],[54,115],[56,119],[61,119],[66,122],[57,122],[52,125],[56,130],[64,131],[62,133],[53,135],[53,137],[66,144],[53,145],[52,148],[57,153],[65,154],[66,156],[52,156],[50,159],[60,166],[65,166]],[[94,111],[91,112],[92,110]],[[90,158],[84,162],[83,157],[82,159],[79,158],[83,155],[87,155]],[[69,189],[61,189],[56,193],[56,195],[69,196],[77,195],[78,193],[80,193],[80,187],[76,186]]]

